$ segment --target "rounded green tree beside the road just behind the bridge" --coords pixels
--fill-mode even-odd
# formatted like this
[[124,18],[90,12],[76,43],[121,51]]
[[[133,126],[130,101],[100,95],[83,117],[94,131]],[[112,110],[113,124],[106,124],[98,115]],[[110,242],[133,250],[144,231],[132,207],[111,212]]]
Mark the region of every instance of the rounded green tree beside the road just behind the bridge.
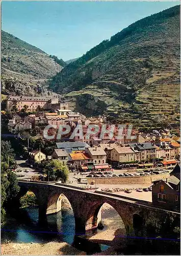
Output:
[[49,179],[61,179],[62,183],[65,183],[68,179],[68,167],[58,159],[50,160],[44,170]]

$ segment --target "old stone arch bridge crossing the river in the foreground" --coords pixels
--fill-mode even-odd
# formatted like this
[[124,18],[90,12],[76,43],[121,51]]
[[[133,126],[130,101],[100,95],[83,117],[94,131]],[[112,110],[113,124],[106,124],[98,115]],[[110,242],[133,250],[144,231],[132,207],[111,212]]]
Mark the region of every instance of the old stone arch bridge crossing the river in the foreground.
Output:
[[[138,217],[141,220],[139,224],[137,223],[140,225],[140,235],[146,236],[147,219],[155,216],[163,218],[168,214],[167,210],[156,208],[151,203],[141,200],[96,193],[64,184],[19,181],[18,185],[20,186],[18,200],[28,190],[35,194],[39,206],[40,223],[46,222],[47,214],[53,214],[61,210],[60,196],[61,194],[65,195],[73,209],[75,234],[78,235],[85,235],[90,233],[90,230],[97,228],[100,221],[98,212],[104,203],[110,204],[118,212],[128,237],[133,237],[136,234],[134,216],[137,216],[136,221],[138,221]],[[177,213],[174,212],[174,214]]]

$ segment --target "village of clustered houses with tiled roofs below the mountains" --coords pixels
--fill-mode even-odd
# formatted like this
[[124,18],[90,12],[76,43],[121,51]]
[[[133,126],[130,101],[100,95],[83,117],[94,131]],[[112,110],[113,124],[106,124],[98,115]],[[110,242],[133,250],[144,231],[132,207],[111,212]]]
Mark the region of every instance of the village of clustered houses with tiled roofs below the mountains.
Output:
[[[179,159],[180,137],[168,129],[152,130],[150,133],[132,129],[131,136],[127,136],[128,124],[125,124],[120,138],[116,136],[116,129],[112,136],[107,130],[100,138],[101,131],[97,130],[97,133],[93,132],[87,137],[89,126],[110,125],[106,117],[86,117],[72,112],[68,109],[68,103],[61,101],[57,95],[53,98],[10,96],[6,110],[13,113],[12,118],[6,120],[6,125],[7,131],[14,135],[21,136],[23,132],[32,134],[34,131],[36,137],[45,139],[43,130],[47,125],[51,133],[52,127],[57,131],[61,125],[70,126],[70,132],[61,139],[54,137],[56,148],[51,155],[45,155],[41,149],[39,152],[39,148],[30,152],[38,162],[59,159],[71,169],[83,171],[91,169],[91,164],[95,169],[108,169],[109,164],[143,168],[175,165]],[[77,131],[70,139],[69,135],[77,125],[81,125],[82,136],[77,136]]]

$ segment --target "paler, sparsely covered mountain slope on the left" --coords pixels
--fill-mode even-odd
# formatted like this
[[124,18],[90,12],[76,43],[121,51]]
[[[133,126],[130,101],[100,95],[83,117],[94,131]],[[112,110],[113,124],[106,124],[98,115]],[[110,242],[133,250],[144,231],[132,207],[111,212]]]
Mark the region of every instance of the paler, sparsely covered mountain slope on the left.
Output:
[[[13,90],[24,95],[34,95],[37,86],[43,85],[62,68],[42,50],[2,31],[2,76],[6,93]],[[12,82],[13,88],[10,87]]]

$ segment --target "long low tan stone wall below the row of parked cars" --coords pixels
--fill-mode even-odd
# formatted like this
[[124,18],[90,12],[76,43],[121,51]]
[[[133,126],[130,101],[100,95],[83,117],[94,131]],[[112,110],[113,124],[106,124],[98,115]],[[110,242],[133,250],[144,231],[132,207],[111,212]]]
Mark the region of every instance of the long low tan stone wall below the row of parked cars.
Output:
[[[169,174],[157,174],[147,176],[134,177],[110,177],[110,178],[86,178],[89,184],[93,181],[94,184],[149,184],[154,180],[168,178]],[[95,181],[96,179],[96,181]]]

